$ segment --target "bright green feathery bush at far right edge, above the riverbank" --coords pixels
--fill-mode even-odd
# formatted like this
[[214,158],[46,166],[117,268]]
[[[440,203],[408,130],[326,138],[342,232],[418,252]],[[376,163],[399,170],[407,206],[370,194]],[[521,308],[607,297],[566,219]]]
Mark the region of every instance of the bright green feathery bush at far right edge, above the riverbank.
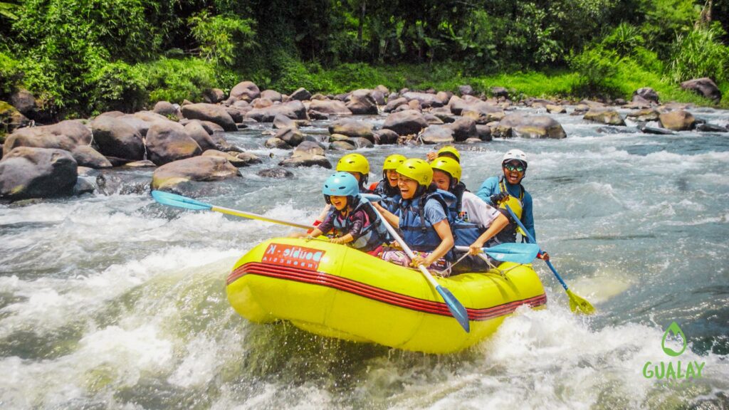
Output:
[[718,41],[714,28],[695,28],[679,35],[671,47],[668,77],[674,82],[698,77],[729,80],[729,47]]

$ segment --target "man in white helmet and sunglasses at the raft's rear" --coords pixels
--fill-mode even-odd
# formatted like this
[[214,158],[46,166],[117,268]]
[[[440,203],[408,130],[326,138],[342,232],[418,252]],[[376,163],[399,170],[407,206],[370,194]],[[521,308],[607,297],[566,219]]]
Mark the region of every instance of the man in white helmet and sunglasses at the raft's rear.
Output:
[[[505,205],[518,215],[519,220],[529,232],[532,238],[536,238],[534,233],[534,215],[532,214],[531,195],[526,192],[521,181],[526,176],[526,167],[528,165],[526,154],[522,150],[509,150],[502,157],[502,171],[504,174],[499,177],[490,177],[486,179],[479,188],[476,195],[492,206],[498,206],[505,215]],[[521,210],[521,215],[518,212]],[[516,229],[508,229],[502,231],[496,236],[496,243],[515,242]],[[539,255],[539,258],[549,260],[547,252]]]

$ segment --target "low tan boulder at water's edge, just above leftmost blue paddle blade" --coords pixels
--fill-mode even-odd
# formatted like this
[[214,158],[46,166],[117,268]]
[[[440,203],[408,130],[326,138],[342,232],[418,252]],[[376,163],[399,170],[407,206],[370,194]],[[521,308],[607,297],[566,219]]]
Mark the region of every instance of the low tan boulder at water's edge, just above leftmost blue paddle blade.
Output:
[[240,177],[232,163],[219,156],[200,156],[167,163],[152,174],[153,190],[174,190],[190,181],[220,181]]

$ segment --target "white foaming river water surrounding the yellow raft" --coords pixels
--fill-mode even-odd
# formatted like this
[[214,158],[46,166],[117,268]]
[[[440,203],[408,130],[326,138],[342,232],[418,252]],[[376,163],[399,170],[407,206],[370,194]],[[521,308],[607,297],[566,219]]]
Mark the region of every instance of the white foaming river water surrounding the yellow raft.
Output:
[[[726,111],[692,112],[729,120]],[[463,179],[477,190],[499,172],[503,152],[528,153],[524,185],[534,196],[537,239],[596,315],[572,314],[537,260],[547,309],[520,309],[465,352],[325,339],[250,323],[227,303],[235,260],[291,228],[171,209],[123,187],[0,205],[0,408],[729,408],[729,134],[648,135],[631,124],[555,118],[568,138],[464,146]],[[326,126],[303,131],[323,137]],[[265,149],[263,131],[227,134],[264,163],[241,169],[243,178],[201,185],[201,198],[313,220],[331,171],[258,177],[287,155]],[[393,152],[426,150],[360,152],[378,170]],[[328,154],[332,164],[340,155]],[[152,171],[132,172],[151,180]],[[689,342],[680,357],[661,348],[674,321]],[[684,370],[704,363],[701,379],[667,384],[643,374],[647,362],[679,360]]]

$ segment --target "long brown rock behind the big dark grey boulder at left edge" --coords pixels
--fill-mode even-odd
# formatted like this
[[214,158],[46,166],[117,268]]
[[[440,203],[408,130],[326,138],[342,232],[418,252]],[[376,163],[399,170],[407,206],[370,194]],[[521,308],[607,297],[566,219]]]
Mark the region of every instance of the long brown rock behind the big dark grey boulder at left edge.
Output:
[[91,138],[91,130],[79,120],[19,128],[5,139],[3,153],[5,155],[15,147],[56,148],[70,152],[79,145],[91,144]]

